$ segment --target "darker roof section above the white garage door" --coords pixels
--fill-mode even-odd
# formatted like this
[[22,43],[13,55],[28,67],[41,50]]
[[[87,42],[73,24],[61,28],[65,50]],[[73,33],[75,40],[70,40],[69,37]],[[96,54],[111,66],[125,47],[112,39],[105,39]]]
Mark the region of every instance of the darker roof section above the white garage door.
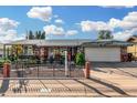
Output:
[[128,47],[133,43],[118,40],[94,40],[92,42],[84,42],[82,47]]

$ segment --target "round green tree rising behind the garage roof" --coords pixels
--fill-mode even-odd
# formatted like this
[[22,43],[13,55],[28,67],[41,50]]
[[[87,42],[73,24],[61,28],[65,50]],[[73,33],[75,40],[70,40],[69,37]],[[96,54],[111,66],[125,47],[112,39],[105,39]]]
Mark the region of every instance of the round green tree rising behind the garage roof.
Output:
[[98,31],[98,40],[113,39],[112,32],[109,30]]

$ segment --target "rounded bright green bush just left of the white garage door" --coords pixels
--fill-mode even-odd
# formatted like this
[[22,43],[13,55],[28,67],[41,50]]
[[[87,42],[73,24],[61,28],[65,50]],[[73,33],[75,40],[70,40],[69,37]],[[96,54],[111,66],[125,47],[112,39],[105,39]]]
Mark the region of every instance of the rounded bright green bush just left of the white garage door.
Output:
[[82,52],[77,53],[75,62],[76,62],[77,65],[84,65],[85,64],[84,53],[82,53]]

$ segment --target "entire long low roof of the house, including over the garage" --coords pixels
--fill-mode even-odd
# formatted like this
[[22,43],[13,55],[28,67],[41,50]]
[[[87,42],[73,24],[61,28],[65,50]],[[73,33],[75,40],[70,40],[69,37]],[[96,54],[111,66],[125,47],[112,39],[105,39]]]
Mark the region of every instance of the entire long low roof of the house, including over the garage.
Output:
[[31,45],[40,45],[40,47],[128,47],[133,45],[133,43],[126,41],[118,40],[89,40],[89,39],[81,39],[81,40],[20,40],[14,41],[7,44],[31,44]]

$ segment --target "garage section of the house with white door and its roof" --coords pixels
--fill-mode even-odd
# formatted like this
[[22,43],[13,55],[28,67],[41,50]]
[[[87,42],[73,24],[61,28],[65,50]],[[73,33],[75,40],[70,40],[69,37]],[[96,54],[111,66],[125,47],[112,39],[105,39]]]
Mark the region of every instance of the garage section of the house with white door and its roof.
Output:
[[125,41],[95,40],[85,42],[84,47],[86,61],[93,62],[120,62],[122,55],[127,54],[127,47],[131,45]]

